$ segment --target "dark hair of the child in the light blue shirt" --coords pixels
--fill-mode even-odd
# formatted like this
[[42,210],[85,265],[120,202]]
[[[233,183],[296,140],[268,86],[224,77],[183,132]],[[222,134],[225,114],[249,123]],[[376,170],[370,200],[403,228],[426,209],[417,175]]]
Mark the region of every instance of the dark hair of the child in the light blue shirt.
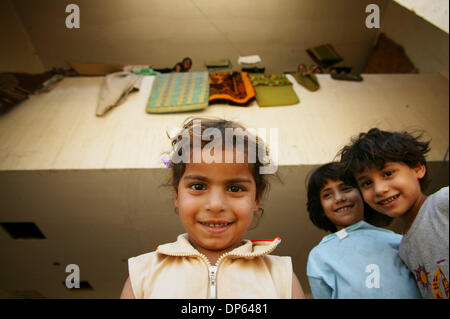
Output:
[[[341,180],[345,184],[358,189],[353,176],[350,174],[344,175],[342,172],[343,170],[338,162],[331,162],[315,169],[307,177],[308,194],[306,207],[309,213],[309,219],[316,227],[331,233],[336,232],[337,228],[325,215],[322,203],[320,202],[320,191],[328,183],[328,180]],[[364,220],[378,227],[388,226],[392,222],[391,217],[373,210],[366,202],[364,202]]]

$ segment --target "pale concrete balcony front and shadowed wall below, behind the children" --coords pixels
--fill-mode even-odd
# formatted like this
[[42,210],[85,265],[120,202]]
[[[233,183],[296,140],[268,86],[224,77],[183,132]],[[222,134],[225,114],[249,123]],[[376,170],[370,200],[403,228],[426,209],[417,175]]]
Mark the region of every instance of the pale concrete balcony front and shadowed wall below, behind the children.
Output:
[[[146,77],[139,92],[105,117],[95,116],[102,77],[65,78],[0,116],[0,222],[34,222],[47,237],[12,239],[0,228],[0,298],[118,297],[127,258],[183,232],[173,193],[160,187],[169,177],[160,156],[170,151],[166,132],[188,116],[279,130],[279,145],[270,150],[278,154],[282,183],[271,179],[264,216],[245,237],[280,236],[274,254],[292,256],[306,293],[308,253],[325,232],[308,219],[305,179],[352,136],[374,126],[425,130],[432,139],[431,185],[448,185],[448,160],[440,166],[448,147],[449,86],[439,74],[367,74],[363,82],[322,74],[316,92],[293,84],[297,105],[215,104],[189,114],[146,114],[153,79]],[[68,264],[80,266],[93,291],[65,288]]]

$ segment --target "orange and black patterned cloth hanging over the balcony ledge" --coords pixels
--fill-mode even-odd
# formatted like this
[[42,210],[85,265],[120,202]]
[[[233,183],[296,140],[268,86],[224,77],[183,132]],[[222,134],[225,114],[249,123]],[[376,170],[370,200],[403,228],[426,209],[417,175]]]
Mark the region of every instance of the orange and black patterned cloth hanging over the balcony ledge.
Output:
[[209,73],[209,101],[226,100],[243,105],[255,95],[247,72]]

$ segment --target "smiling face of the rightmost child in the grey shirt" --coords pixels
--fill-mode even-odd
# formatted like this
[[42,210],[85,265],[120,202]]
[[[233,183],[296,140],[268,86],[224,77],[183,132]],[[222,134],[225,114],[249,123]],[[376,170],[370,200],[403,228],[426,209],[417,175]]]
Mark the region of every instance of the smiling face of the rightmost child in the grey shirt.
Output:
[[419,182],[425,172],[421,164],[411,168],[403,162],[387,162],[381,169],[371,166],[355,177],[364,200],[373,209],[408,222],[411,217],[414,220],[425,200]]

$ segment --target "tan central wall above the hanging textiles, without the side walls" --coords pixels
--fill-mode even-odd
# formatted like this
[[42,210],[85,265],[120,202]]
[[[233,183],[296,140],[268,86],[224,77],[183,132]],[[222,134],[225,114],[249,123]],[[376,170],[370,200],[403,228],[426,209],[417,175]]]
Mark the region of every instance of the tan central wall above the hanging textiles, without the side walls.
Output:
[[[313,61],[305,50],[332,43],[345,64],[361,70],[377,29],[365,8],[387,0],[11,0],[46,69],[65,61],[172,67],[259,54],[269,72]],[[80,28],[67,29],[65,8],[80,8]]]

